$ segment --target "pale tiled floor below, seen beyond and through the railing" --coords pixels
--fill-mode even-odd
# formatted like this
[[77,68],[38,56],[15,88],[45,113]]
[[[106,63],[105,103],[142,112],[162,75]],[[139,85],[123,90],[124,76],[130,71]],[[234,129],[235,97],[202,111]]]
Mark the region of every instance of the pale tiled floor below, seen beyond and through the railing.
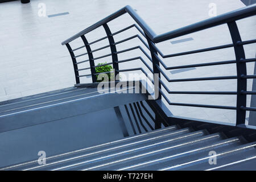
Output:
[[[40,7],[46,5],[46,16],[39,16]],[[19,1],[0,4],[0,101],[11,98],[28,96],[31,94],[47,92],[61,88],[67,88],[75,84],[72,61],[65,46],[61,46],[63,40],[105,18],[114,11],[129,4],[148,23],[156,34],[174,30],[199,20],[209,18],[209,3],[216,3],[217,15],[243,7],[239,0],[32,0],[31,3],[21,4]],[[69,14],[67,14],[67,12]],[[59,16],[55,14],[66,13]],[[49,17],[50,15],[50,17]],[[255,39],[255,18],[239,20],[242,40]],[[133,20],[128,15],[109,23],[112,32],[132,24]],[[135,29],[127,31],[115,37],[122,40],[135,34]],[[137,33],[136,33],[137,34]],[[90,32],[86,38],[89,42],[105,36],[100,28]],[[179,42],[181,39],[192,38],[188,42]],[[179,43],[171,44],[170,41],[178,40]],[[218,26],[209,30],[196,32],[187,36],[181,36],[158,44],[162,51],[167,53],[182,52],[197,48],[219,46],[230,43],[230,35],[227,26]],[[92,49],[105,46],[108,42],[100,42]],[[130,40],[129,44],[119,45],[118,50],[137,46],[138,41]],[[71,44],[72,48],[82,46],[81,40]],[[81,50],[79,53],[83,53]],[[94,56],[109,53],[109,49],[99,51]],[[246,57],[255,57],[255,44],[245,46]],[[128,56],[141,55],[139,51],[118,55],[119,60]],[[142,55],[141,55],[142,56]],[[133,56],[134,57],[134,56]],[[85,60],[81,56],[79,60]],[[174,57],[164,60],[168,66],[196,64],[211,61],[233,60],[233,48],[194,55]],[[108,61],[109,58],[99,60],[96,63]],[[146,60],[146,57],[145,57]],[[121,68],[133,68],[134,63],[141,67],[139,61],[120,65]],[[86,66],[86,65],[84,65]],[[247,72],[252,75],[254,63],[247,64]],[[201,67],[176,74],[167,73],[171,78],[206,77],[236,75],[236,67],[233,64]],[[83,82],[90,82],[90,78],[83,78]],[[236,81],[197,81],[175,82],[169,84],[172,90],[236,90]],[[251,90],[251,80],[248,82],[248,90]],[[236,105],[236,96],[189,96],[172,95],[173,102]],[[250,98],[248,97],[248,101]],[[250,103],[250,102],[248,102]],[[195,107],[170,106],[175,115],[195,117],[224,122],[234,122],[234,111],[220,109],[201,109]]]

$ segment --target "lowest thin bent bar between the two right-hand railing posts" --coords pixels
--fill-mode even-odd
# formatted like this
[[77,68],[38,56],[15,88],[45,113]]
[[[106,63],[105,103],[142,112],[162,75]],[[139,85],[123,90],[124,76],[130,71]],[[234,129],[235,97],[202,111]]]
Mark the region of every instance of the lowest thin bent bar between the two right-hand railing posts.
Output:
[[237,107],[233,107],[233,106],[219,106],[219,105],[203,105],[203,104],[175,103],[175,102],[171,102],[171,101],[166,97],[166,94],[164,94],[161,89],[159,89],[159,92],[162,94],[162,96],[165,98],[165,100],[168,102],[169,105],[189,106],[189,107],[207,107],[207,108],[213,108],[213,109],[230,109],[230,110],[236,110],[236,109],[237,109]]

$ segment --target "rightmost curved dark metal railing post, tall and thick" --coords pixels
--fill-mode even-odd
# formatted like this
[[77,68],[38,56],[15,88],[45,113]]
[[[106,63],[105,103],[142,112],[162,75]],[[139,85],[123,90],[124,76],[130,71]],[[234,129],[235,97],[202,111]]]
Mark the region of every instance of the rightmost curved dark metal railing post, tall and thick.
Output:
[[242,107],[246,107],[246,95],[242,94],[247,89],[247,80],[242,79],[242,76],[246,75],[246,63],[241,62],[245,59],[245,51],[241,36],[235,21],[228,23],[230,35],[234,45],[234,52],[236,54],[236,65],[237,65],[237,121],[236,125],[245,124],[246,110],[242,110]]

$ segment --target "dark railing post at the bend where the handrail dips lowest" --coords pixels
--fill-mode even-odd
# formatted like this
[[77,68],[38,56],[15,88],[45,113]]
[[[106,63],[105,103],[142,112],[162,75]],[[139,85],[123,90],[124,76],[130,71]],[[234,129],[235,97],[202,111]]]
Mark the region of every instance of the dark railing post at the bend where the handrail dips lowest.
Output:
[[[146,33],[145,33],[146,34]],[[155,53],[156,55],[158,54],[158,52],[156,51],[156,49],[151,45],[155,44],[154,42],[152,42],[152,40],[146,35],[147,38],[147,42],[148,42],[148,46],[150,48],[150,53],[151,53],[151,59],[152,59],[152,65],[153,65],[153,75],[154,75],[154,89],[161,89],[161,84],[159,84],[159,78],[160,78],[160,71],[157,68],[157,66],[159,66],[159,60],[156,59],[155,57]],[[158,84],[156,84],[158,83]],[[156,92],[155,92],[156,93]],[[162,94],[160,92],[158,92],[158,97],[155,98],[155,100],[160,100],[162,98]]]

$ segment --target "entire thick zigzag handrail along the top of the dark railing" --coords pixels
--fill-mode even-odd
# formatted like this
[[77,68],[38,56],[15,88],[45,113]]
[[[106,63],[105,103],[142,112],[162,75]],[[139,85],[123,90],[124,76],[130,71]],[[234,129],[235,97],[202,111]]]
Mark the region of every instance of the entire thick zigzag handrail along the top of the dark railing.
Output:
[[80,36],[85,35],[88,32],[102,26],[103,24],[108,23],[115,18],[118,18],[119,16],[121,16],[125,13],[128,13],[135,20],[135,22],[138,23],[138,25],[146,33],[148,38],[150,38],[152,40],[152,42],[159,43],[159,42],[163,42],[165,40],[176,38],[178,36],[190,34],[192,32],[204,30],[206,28],[210,28],[210,27],[218,26],[220,24],[232,22],[233,20],[239,20],[239,19],[243,19],[243,18],[246,18],[249,16],[256,15],[256,4],[242,7],[241,9],[230,11],[229,13],[221,14],[221,15],[215,16],[213,18],[202,20],[200,22],[190,24],[189,26],[178,28],[176,30],[166,32],[166,33],[160,34],[160,35],[156,35],[155,32],[147,25],[147,23],[144,22],[144,20],[132,9],[132,7],[127,5],[127,6],[123,7],[122,9],[116,11],[115,13],[107,16],[106,18],[98,21],[97,23],[94,23],[92,26],[85,28],[84,30],[77,33],[76,35],[73,35],[71,38],[65,40],[61,44],[65,45],[65,44],[71,42],[72,40],[75,40],[75,39],[79,38]]

